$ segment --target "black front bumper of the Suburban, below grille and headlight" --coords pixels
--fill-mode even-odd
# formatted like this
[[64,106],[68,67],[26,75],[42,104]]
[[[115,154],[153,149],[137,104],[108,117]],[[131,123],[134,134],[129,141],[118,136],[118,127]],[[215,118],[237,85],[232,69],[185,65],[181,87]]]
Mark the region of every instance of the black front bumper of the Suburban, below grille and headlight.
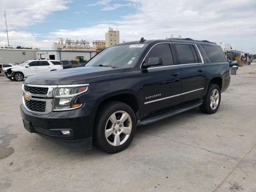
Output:
[[[30,122],[31,132],[58,142],[63,146],[78,150],[92,149],[93,107],[95,102],[87,102],[82,108],[70,111],[35,114],[20,105],[22,119]],[[61,130],[69,130],[63,135]]]

